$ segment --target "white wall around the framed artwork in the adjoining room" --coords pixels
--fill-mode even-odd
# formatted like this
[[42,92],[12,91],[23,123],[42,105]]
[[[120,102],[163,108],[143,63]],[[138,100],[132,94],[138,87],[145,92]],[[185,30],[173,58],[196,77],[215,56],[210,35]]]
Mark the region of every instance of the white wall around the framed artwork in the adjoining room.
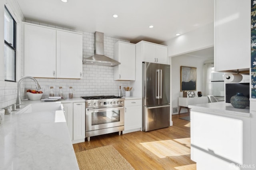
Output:
[[[182,97],[180,91],[180,66],[196,67],[196,91],[202,91],[203,64],[206,59],[200,57],[191,57],[187,55],[179,55],[171,57],[172,60],[172,107],[178,107],[178,97]],[[204,96],[204,94],[203,94]],[[179,111],[179,108],[178,108]],[[187,109],[181,109],[180,113],[187,112]]]

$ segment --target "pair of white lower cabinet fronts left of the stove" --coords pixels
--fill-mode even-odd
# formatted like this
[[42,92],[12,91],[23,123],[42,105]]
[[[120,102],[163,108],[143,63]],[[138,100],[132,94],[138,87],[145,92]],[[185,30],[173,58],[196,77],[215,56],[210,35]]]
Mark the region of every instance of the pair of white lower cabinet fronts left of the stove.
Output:
[[85,139],[85,102],[62,103],[72,144]]

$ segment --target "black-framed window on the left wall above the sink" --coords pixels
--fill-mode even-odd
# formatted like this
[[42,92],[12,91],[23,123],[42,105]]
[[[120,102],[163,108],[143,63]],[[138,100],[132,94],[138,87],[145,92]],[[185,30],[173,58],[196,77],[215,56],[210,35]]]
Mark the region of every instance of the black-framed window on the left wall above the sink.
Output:
[[16,22],[4,7],[4,79],[16,81]]

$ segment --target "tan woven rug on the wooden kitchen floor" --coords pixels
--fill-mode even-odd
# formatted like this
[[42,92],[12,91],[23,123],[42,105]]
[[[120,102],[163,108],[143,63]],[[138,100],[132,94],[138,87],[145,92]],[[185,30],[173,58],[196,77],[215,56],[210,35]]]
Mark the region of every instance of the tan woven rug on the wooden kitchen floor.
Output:
[[80,170],[134,170],[112,145],[77,152],[76,159]]

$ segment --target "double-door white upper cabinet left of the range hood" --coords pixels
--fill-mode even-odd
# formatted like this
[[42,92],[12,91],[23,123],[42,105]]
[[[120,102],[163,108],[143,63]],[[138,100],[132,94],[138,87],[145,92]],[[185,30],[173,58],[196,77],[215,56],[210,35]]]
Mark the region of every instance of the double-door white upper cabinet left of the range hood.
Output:
[[82,34],[24,24],[24,74],[82,78]]

